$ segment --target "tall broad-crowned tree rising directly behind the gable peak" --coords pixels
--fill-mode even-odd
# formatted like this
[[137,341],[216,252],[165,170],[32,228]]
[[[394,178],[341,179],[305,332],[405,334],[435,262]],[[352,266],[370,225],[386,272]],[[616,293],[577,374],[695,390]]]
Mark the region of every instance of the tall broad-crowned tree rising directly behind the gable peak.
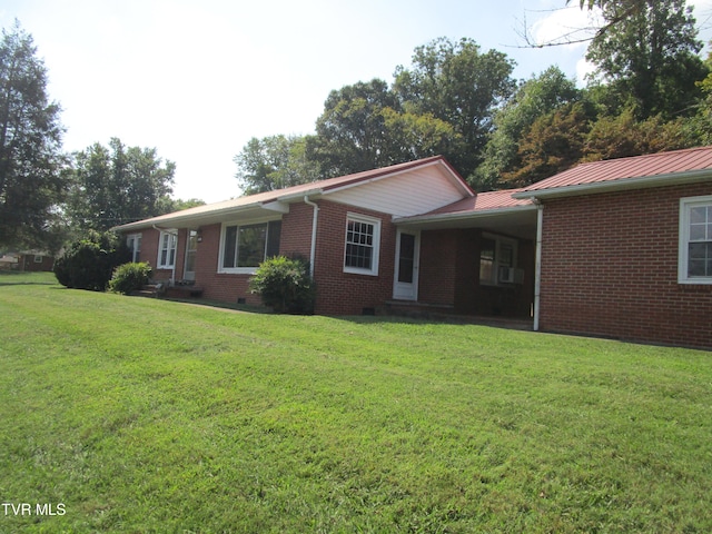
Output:
[[453,127],[459,144],[446,156],[468,176],[483,159],[495,110],[515,89],[513,68],[504,53],[482,53],[471,39],[441,38],[415,49],[412,69],[396,68],[394,90],[407,111]]

